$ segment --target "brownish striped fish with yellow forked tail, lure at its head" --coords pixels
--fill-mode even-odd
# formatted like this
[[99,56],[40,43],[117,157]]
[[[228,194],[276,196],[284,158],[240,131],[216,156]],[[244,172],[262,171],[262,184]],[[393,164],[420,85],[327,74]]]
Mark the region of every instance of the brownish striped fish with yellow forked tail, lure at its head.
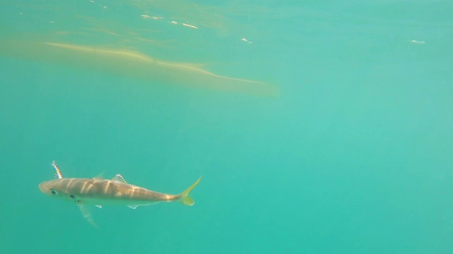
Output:
[[91,205],[99,208],[102,208],[103,205],[127,205],[132,209],[139,205],[154,205],[159,202],[173,201],[181,202],[184,205],[193,205],[195,201],[190,198],[189,193],[202,179],[200,177],[182,193],[172,195],[129,184],[120,174],[117,174],[111,180],[64,178],[55,161],[52,162],[52,166],[55,168],[56,179],[40,183],[42,193],[76,203],[85,219],[94,226],[96,224],[91,217]]

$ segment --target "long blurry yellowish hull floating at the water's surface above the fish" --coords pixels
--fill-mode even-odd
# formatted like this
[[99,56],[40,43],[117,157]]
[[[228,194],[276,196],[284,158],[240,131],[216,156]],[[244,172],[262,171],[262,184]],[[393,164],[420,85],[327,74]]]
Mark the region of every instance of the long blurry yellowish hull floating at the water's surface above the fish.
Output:
[[229,78],[206,71],[195,64],[161,61],[127,50],[53,42],[0,41],[0,55],[30,61],[46,61],[174,85],[204,87],[264,97],[280,95],[280,90],[275,85]]

